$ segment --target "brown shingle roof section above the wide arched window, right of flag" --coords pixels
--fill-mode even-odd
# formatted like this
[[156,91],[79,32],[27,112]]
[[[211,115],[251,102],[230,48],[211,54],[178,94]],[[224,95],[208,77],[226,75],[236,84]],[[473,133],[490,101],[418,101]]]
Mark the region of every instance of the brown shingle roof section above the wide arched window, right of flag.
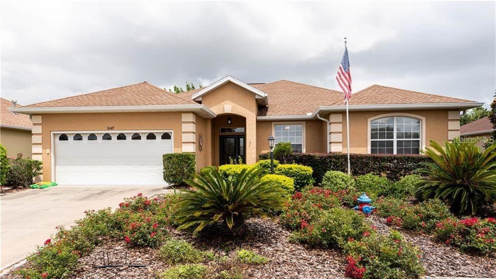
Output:
[[[374,84],[353,94],[350,105],[396,105],[396,104],[435,104],[474,102],[465,99],[446,97]],[[334,105],[343,105],[338,100]]]

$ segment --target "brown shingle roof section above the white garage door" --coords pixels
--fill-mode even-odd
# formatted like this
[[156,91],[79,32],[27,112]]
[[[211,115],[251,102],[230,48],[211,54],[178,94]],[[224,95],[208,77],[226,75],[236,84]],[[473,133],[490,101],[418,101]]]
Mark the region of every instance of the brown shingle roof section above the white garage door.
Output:
[[35,107],[146,106],[196,104],[148,82],[32,104]]

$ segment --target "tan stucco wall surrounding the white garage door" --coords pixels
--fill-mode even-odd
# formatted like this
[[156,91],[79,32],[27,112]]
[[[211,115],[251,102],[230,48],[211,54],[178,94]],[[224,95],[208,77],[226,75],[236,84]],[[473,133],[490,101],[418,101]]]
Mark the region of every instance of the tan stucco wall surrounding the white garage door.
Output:
[[[200,117],[198,117],[201,119]],[[43,180],[51,181],[51,132],[54,131],[105,131],[107,127],[118,130],[173,130],[174,152],[182,152],[181,113],[86,113],[44,114],[42,121]]]

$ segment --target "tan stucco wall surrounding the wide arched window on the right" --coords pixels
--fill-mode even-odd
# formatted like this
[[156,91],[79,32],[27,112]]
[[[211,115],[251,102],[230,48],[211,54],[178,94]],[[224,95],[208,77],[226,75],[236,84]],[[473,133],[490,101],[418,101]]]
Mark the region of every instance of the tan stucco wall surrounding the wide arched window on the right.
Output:
[[[448,139],[447,110],[408,110],[408,111],[364,111],[350,112],[350,145],[351,153],[367,153],[367,129],[369,118],[381,114],[409,113],[426,118],[426,147],[429,140],[443,143]],[[346,114],[343,114],[343,153],[347,152]]]

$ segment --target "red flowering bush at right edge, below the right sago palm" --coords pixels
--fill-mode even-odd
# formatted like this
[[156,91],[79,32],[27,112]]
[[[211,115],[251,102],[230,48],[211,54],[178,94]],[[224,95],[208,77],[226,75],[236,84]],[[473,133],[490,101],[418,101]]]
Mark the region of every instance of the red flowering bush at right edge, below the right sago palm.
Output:
[[462,252],[490,254],[496,252],[495,218],[448,218],[436,223],[434,235]]

